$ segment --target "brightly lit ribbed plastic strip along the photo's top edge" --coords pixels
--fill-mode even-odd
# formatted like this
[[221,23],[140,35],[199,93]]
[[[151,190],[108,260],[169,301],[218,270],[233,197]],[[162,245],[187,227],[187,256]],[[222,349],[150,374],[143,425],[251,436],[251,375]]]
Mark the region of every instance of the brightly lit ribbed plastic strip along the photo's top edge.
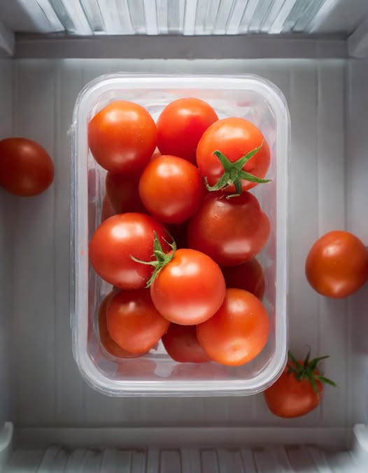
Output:
[[[68,34],[300,33],[356,27],[364,1],[352,0],[14,0],[16,31]],[[355,14],[356,12],[356,14]],[[349,15],[346,15],[349,13]],[[332,14],[332,21],[326,18]],[[17,17],[17,19],[15,18]],[[348,16],[348,17],[347,17]]]

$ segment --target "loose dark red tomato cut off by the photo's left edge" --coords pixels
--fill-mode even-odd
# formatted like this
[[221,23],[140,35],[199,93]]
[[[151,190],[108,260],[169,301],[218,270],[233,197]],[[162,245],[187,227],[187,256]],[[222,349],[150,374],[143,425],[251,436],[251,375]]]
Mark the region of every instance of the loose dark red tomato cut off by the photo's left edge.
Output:
[[48,189],[53,179],[54,165],[41,145],[27,138],[0,141],[0,184],[6,191],[36,196]]

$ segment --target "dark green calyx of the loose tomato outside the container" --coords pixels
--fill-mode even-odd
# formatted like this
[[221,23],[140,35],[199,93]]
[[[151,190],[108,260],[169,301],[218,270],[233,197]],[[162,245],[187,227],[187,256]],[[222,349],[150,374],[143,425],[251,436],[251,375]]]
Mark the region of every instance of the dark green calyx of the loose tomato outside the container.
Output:
[[317,397],[320,397],[320,390],[317,387],[316,381],[320,381],[323,384],[328,384],[329,386],[334,386],[334,388],[337,387],[337,384],[334,383],[329,378],[326,378],[325,376],[321,376],[316,373],[316,368],[317,365],[320,361],[325,360],[326,358],[330,358],[330,356],[319,356],[318,358],[313,358],[312,361],[309,361],[309,358],[311,356],[311,349],[309,349],[308,353],[306,354],[306,357],[303,361],[303,363],[299,363],[295,356],[291,353],[291,351],[288,351],[288,357],[292,364],[288,363],[288,370],[289,374],[292,373],[295,376],[295,379],[297,381],[302,381],[303,379],[307,379],[313,388],[313,391],[316,393]]

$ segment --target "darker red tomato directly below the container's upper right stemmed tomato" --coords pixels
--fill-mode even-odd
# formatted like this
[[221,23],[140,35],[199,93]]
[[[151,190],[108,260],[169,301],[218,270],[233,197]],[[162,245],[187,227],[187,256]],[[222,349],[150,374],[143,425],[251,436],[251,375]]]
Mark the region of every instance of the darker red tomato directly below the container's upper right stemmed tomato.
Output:
[[245,263],[269,238],[269,219],[249,192],[227,199],[211,192],[188,225],[188,243],[222,266]]

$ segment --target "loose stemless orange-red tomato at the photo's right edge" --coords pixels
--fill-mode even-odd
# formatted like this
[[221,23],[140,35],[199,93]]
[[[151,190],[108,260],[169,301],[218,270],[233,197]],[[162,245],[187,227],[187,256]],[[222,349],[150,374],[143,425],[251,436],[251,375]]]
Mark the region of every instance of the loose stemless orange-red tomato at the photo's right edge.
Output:
[[330,298],[350,296],[368,279],[368,250],[347,231],[330,231],[311,247],[306,279],[315,291]]

